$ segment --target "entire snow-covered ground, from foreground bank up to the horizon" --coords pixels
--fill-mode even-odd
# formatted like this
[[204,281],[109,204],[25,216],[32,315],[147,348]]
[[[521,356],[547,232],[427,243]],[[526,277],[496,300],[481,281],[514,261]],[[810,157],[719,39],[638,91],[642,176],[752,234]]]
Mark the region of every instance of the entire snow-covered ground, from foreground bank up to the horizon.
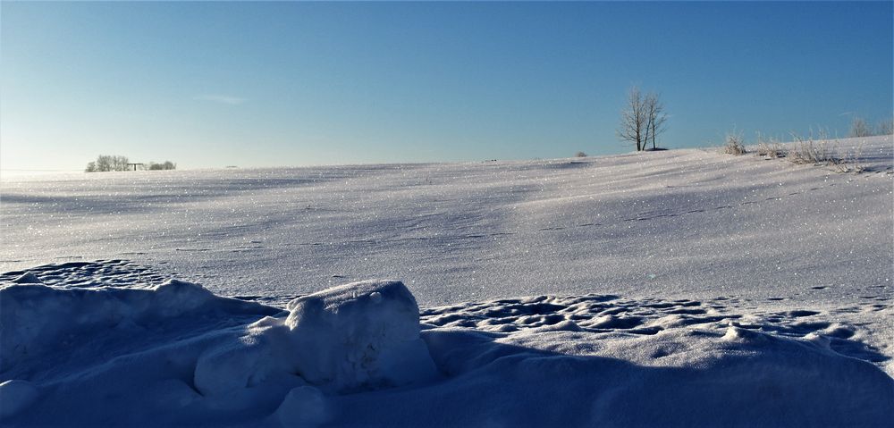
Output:
[[[894,142],[839,150],[865,172],[686,149],[4,178],[0,416],[890,426]],[[382,278],[406,288],[307,297]]]

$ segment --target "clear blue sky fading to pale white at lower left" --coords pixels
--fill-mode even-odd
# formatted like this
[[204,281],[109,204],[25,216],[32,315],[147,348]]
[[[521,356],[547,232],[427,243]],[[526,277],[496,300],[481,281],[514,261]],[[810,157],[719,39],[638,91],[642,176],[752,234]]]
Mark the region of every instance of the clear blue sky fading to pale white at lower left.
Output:
[[844,136],[894,110],[883,3],[0,4],[0,168],[100,154],[180,168],[630,151]]

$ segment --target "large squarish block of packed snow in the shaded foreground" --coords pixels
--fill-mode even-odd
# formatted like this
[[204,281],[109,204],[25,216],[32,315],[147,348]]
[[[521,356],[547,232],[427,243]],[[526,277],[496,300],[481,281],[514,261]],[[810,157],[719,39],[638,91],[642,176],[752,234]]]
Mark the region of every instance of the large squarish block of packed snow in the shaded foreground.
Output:
[[285,325],[305,380],[338,391],[436,375],[419,337],[419,307],[401,281],[361,281],[292,300]]

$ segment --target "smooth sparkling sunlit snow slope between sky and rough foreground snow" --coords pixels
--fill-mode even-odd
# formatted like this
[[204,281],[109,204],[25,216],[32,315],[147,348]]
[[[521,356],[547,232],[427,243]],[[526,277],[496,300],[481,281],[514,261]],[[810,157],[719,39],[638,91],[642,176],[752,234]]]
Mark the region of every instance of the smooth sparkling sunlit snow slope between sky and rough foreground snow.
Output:
[[422,306],[590,292],[858,304],[890,297],[894,276],[894,143],[841,146],[863,141],[863,174],[686,149],[4,179],[0,272],[129,259],[277,305],[368,278],[401,278]]

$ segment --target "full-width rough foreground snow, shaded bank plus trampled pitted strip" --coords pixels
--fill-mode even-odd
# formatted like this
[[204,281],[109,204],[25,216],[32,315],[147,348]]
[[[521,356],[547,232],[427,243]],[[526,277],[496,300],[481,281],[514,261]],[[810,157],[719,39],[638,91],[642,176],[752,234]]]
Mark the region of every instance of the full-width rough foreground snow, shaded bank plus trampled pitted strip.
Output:
[[[890,426],[861,329],[735,299],[510,298],[418,309],[361,281],[286,310],[197,284],[0,275],[0,424]],[[42,283],[54,277],[55,285]],[[285,278],[286,275],[283,275]],[[153,277],[154,278],[154,277]],[[132,278],[131,278],[132,279]],[[745,311],[745,313],[743,313]],[[420,323],[421,320],[421,323]]]

